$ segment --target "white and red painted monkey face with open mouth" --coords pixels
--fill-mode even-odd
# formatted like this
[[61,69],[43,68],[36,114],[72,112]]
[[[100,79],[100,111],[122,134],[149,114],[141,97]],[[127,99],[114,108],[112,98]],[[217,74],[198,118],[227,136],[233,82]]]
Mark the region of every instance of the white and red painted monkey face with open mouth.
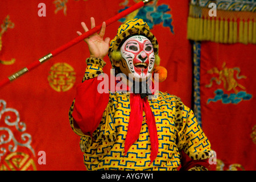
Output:
[[121,47],[121,55],[134,77],[147,77],[154,68],[153,45],[145,36],[134,35],[127,39]]

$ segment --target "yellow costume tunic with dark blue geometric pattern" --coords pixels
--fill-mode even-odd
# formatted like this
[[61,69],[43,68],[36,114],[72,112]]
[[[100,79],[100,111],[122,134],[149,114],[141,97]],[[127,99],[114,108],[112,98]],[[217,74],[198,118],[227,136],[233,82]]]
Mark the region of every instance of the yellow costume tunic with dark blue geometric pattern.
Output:
[[[102,72],[102,68],[88,63],[85,77],[96,77],[99,71]],[[145,121],[139,139],[125,155],[124,144],[130,116],[129,93],[109,94],[108,106],[92,136],[83,134],[74,126],[72,105],[69,114],[71,127],[81,136],[80,148],[84,152],[84,164],[88,170],[176,170],[180,166],[181,150],[193,160],[209,158],[209,140],[197,123],[193,111],[179,97],[159,92],[155,100],[148,102],[155,115],[159,140],[158,156],[151,164],[150,137]]]

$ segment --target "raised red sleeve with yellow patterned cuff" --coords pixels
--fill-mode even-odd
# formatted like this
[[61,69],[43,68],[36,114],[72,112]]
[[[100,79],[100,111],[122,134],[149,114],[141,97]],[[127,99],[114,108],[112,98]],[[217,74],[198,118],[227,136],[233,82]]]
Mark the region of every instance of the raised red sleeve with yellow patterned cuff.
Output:
[[92,135],[97,129],[109,101],[109,92],[99,93],[97,90],[102,82],[97,77],[103,73],[105,61],[88,58],[86,63],[84,78],[77,86],[75,100],[69,110],[69,123],[72,130],[81,137]]

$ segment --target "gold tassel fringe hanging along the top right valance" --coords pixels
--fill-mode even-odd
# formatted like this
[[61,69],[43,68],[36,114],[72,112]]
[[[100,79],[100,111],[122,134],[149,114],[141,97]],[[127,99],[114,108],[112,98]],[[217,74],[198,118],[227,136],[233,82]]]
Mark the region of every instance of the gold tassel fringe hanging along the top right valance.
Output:
[[256,13],[217,10],[217,16],[210,17],[208,12],[208,8],[189,7],[188,39],[256,44]]

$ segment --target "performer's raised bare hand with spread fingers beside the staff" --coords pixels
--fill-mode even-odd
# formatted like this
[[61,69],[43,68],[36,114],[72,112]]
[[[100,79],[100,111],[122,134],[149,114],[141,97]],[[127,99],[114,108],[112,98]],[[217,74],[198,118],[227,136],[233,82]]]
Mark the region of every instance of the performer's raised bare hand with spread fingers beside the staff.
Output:
[[[90,18],[91,28],[95,27],[95,20],[94,18]],[[89,31],[88,27],[84,22],[81,22],[82,28],[84,28],[84,31]],[[109,50],[109,42],[110,38],[106,38],[104,40],[106,30],[106,23],[102,23],[102,27],[99,34],[93,34],[89,36],[88,38],[84,39],[84,41],[88,44],[90,57],[98,57],[100,59],[103,59],[107,54]],[[80,31],[77,31],[78,35],[82,35]]]

